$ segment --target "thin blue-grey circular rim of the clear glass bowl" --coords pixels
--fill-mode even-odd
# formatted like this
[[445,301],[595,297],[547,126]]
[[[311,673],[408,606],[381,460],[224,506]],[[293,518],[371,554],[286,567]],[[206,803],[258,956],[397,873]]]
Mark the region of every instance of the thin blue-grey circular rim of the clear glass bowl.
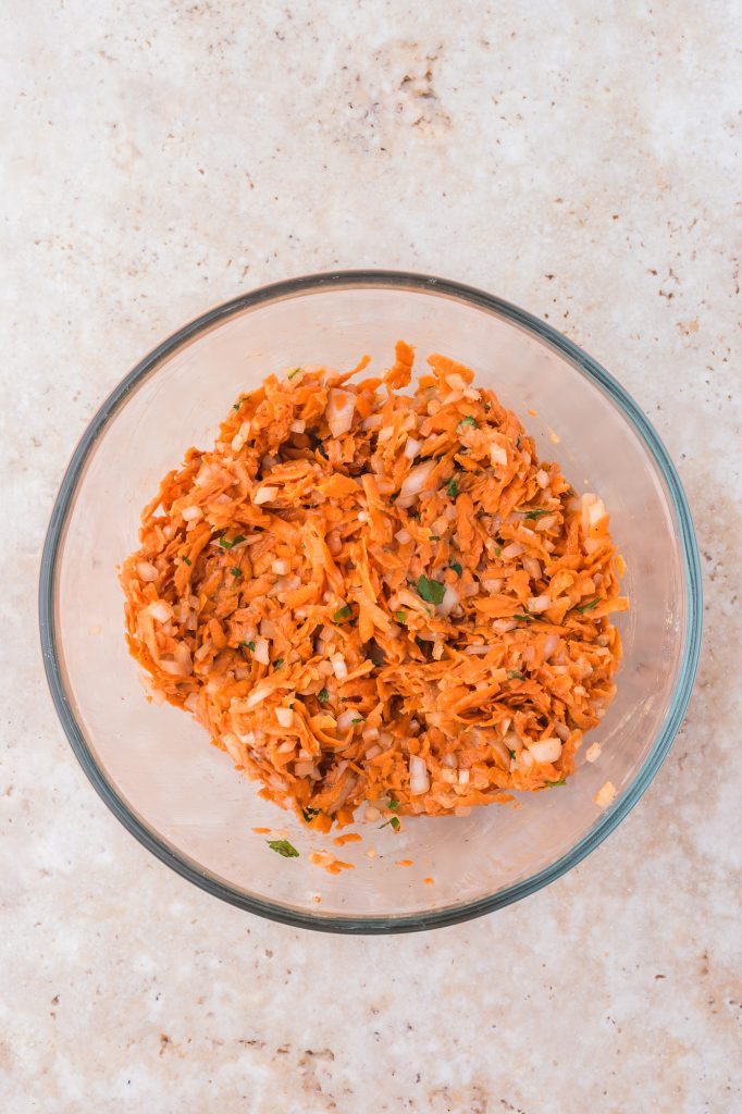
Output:
[[[632,784],[617,798],[615,805],[606,810],[592,829],[569,851],[531,877],[508,886],[495,895],[478,898],[476,901],[470,901],[462,906],[448,906],[441,909],[406,913],[400,917],[344,917],[338,913],[323,916],[320,911],[313,913],[293,909],[281,902],[254,898],[234,889],[216,876],[205,872],[203,868],[199,868],[196,862],[189,860],[186,856],[175,851],[155,831],[146,827],[128,808],[116,786],[109,781],[104,770],[94,759],[67,697],[60,657],[57,653],[58,636],[55,602],[58,557],[61,551],[66,526],[77,495],[79,480],[98,438],[111,419],[125,405],[127,395],[145,377],[154,372],[163,361],[202,333],[211,331],[218,323],[243,311],[254,310],[262,304],[331,289],[358,290],[378,286],[392,290],[412,290],[426,294],[441,294],[505,319],[520,326],[526,332],[534,334],[549,348],[555,349],[578,372],[594,385],[597,385],[603,393],[608,395],[611,401],[613,401],[638,434],[664,480],[665,491],[670,497],[677,527],[678,548],[683,566],[685,625],[680,668],[670,706],[644,763]],[[221,898],[230,905],[292,927],[352,935],[424,931],[427,929],[460,924],[471,920],[475,917],[481,917],[485,913],[501,909],[514,901],[528,897],[544,886],[548,886],[568,870],[572,870],[573,867],[577,866],[587,854],[594,851],[631,812],[648,788],[667,755],[682,723],[693,688],[701,648],[702,616],[701,563],[687,499],[667,450],[652,423],[628,392],[596,360],[578,348],[567,336],[564,336],[551,325],[546,324],[527,311],[512,305],[510,302],[449,278],[390,270],[330,271],[270,283],[214,306],[176,330],[170,336],[156,345],[114,388],[98,409],[75,449],[51,512],[43,544],[39,575],[39,631],[41,651],[47,683],[57,715],[72,751],[89,781],[127,831],[162,862],[166,863],[183,878],[188,879],[188,881],[201,889],[206,890],[206,892]]]

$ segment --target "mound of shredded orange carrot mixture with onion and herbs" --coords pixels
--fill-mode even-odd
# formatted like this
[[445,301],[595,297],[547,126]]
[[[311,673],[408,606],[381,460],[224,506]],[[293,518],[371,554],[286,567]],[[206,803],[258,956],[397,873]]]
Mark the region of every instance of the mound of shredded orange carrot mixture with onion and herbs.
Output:
[[237,399],[121,570],[154,691],[320,830],[562,784],[627,606],[603,502],[468,368],[431,355],[406,394],[408,344],[368,362]]

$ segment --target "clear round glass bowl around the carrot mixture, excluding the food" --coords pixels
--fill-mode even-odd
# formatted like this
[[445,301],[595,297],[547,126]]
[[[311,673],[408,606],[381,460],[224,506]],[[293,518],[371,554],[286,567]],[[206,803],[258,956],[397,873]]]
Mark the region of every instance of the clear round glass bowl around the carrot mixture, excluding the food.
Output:
[[[353,870],[309,862],[332,847],[257,795],[183,712],[148,703],[124,641],[121,559],[139,512],[189,446],[209,447],[240,391],[289,364],[350,368],[394,342],[423,364],[445,352],[517,411],[544,459],[611,512],[628,571],[618,692],[565,786],[468,817],[357,827]],[[528,411],[537,411],[529,418]],[[523,310],[442,278],[382,271],[311,275],[205,313],[146,356],[102,404],[64,478],[40,580],[51,694],[88,778],[121,823],[192,882],[251,912],[336,932],[429,929],[516,901],[578,863],[660,769],[685,710],[701,639],[699,555],[685,496],[636,403],[589,355]],[[604,782],[612,805],[593,801]],[[355,825],[354,825],[355,827]],[[254,828],[299,849],[284,859]],[[375,857],[367,854],[375,850]],[[411,859],[411,867],[400,860]],[[432,879],[426,882],[424,879]]]

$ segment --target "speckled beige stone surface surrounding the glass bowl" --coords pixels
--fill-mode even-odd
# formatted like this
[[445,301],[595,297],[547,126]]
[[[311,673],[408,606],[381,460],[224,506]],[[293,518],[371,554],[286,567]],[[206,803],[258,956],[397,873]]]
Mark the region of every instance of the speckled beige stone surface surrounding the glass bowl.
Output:
[[[742,1111],[739,7],[0,18],[2,1110]],[[388,939],[260,921],[150,858],[78,769],[36,632],[58,481],[127,367],[242,290],[361,265],[485,286],[618,375],[706,590],[686,723],[622,828],[516,907]]]

